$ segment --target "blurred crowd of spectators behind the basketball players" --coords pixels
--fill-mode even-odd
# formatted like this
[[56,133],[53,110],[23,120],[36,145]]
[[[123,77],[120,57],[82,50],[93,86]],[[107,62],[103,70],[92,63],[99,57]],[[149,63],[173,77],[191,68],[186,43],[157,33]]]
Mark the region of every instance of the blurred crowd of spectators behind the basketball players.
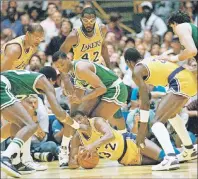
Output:
[[[124,2],[123,2],[124,3]],[[105,41],[112,65],[112,70],[127,85],[129,97],[122,112],[126,120],[127,129],[137,133],[139,121],[138,88],[132,80],[132,72],[124,62],[123,53],[129,47],[136,47],[143,58],[160,55],[167,50],[173,55],[179,54],[183,48],[177,36],[167,26],[166,22],[173,11],[181,9],[189,14],[193,24],[198,22],[198,3],[195,1],[133,1],[134,33],[122,29],[120,22],[122,17],[119,13],[106,12],[109,19],[102,15],[97,17],[97,23],[106,24],[108,33]],[[85,7],[94,7],[91,1],[1,1],[1,46],[9,40],[24,35],[29,24],[40,23],[45,31],[45,40],[39,45],[27,67],[30,71],[39,71],[43,66],[51,66],[53,53],[59,50],[68,34],[73,28],[81,26],[80,14]],[[96,9],[97,11],[97,9]],[[137,28],[139,27],[139,28]],[[170,53],[170,54],[171,54]],[[73,59],[72,51],[67,54]],[[196,66],[194,59],[188,62],[180,62],[180,65]],[[65,110],[69,110],[68,99],[64,95],[61,84],[57,81],[57,99]],[[60,87],[58,87],[60,86]],[[166,94],[165,87],[151,87],[150,120],[161,97]],[[57,146],[61,143],[63,125],[51,114],[50,107],[43,104],[40,98],[31,96],[30,105],[38,109],[39,131],[32,138],[32,151],[52,152],[55,156]],[[36,100],[36,102],[34,102]],[[198,135],[197,97],[190,99],[186,107],[181,111],[193,143],[196,143]],[[181,141],[174,131],[172,134],[173,144],[179,146]],[[152,134],[149,134],[152,138]],[[155,139],[153,139],[155,140]]]

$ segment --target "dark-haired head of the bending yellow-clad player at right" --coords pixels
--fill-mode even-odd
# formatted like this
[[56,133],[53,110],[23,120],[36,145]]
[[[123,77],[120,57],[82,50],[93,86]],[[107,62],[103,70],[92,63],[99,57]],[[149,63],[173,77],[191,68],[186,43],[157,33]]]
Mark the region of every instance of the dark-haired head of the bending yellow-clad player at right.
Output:
[[128,48],[124,53],[124,59],[129,68],[134,68],[141,58],[141,54],[135,48]]

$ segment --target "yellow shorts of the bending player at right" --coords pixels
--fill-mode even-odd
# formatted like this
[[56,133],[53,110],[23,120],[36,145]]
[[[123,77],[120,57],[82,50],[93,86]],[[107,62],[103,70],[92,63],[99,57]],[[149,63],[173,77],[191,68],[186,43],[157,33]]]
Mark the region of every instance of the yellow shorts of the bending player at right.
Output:
[[196,75],[183,67],[179,67],[168,78],[169,91],[174,94],[192,97],[197,94]]

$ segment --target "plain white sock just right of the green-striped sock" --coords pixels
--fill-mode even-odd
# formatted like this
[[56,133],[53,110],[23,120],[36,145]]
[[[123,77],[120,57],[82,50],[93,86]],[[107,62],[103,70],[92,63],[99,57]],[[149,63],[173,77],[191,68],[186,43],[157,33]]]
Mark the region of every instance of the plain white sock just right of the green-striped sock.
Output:
[[22,163],[26,163],[31,161],[32,157],[30,154],[30,146],[31,146],[31,139],[32,137],[30,137],[23,145],[23,147],[21,148],[21,153],[22,153]]

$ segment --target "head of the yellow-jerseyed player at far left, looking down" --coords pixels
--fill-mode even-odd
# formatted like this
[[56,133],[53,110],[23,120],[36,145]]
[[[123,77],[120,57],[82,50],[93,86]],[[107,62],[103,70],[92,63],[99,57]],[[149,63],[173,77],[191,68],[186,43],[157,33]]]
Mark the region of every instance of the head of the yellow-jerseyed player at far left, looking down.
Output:
[[43,27],[40,24],[28,25],[26,37],[30,46],[37,47],[44,40]]

